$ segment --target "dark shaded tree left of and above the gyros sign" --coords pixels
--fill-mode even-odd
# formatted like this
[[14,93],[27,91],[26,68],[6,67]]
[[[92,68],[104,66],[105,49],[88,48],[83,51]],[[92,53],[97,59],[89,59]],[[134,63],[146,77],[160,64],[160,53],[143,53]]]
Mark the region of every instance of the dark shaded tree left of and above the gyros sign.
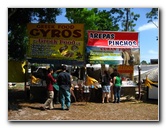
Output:
[[59,8],[8,8],[8,58],[25,59],[27,23],[55,23]]

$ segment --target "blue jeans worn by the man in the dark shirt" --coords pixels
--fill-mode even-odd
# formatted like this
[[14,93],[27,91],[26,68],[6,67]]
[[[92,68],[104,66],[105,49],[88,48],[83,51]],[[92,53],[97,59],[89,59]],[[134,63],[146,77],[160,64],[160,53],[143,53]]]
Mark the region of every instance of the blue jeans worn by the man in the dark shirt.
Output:
[[69,108],[70,104],[71,104],[70,90],[64,90],[64,89],[60,88],[59,94],[60,94],[61,108],[65,109],[65,105],[67,108]]

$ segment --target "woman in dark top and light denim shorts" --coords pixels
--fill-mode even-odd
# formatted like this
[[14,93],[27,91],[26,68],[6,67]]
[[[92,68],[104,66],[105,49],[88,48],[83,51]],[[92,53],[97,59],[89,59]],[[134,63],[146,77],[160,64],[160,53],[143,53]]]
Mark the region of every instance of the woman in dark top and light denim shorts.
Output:
[[110,86],[111,77],[108,71],[104,70],[104,75],[102,76],[102,103],[104,103],[105,97],[106,102],[109,103]]

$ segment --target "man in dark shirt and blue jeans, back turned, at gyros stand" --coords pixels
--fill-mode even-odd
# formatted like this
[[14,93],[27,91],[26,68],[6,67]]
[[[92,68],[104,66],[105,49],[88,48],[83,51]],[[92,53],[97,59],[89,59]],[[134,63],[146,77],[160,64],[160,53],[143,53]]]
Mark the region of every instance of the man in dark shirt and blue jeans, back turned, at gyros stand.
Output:
[[70,99],[70,87],[71,87],[71,78],[70,74],[66,72],[66,66],[62,66],[62,72],[59,73],[57,77],[57,83],[59,85],[59,94],[60,94],[60,102],[61,102],[61,109],[69,110],[71,99]]

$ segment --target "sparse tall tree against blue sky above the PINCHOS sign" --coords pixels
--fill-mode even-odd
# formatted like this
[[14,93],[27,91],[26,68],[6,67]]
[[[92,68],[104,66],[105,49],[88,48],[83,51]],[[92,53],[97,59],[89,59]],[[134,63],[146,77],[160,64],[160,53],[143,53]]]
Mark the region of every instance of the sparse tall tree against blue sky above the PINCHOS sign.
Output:
[[140,17],[139,14],[134,14],[132,8],[112,8],[110,13],[114,24],[121,24],[121,31],[135,31],[135,21]]

